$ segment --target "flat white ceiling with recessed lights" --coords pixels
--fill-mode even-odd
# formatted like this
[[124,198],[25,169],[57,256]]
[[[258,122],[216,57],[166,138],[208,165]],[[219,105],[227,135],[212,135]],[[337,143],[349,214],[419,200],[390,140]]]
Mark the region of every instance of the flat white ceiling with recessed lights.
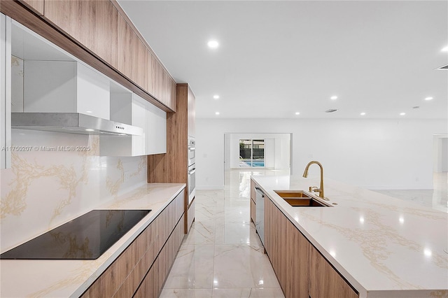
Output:
[[448,1],[119,3],[197,118],[448,118]]

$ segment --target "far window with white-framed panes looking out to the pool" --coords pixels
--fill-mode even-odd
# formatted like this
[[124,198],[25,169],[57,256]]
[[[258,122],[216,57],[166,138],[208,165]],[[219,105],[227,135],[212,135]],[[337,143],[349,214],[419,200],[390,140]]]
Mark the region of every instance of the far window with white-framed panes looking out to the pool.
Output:
[[265,140],[239,140],[239,167],[265,167]]

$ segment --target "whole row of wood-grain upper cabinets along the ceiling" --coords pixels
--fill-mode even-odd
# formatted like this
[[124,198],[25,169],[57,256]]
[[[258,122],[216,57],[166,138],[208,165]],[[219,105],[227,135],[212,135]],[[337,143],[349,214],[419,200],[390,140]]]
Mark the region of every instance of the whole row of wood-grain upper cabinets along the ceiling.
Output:
[[176,82],[116,0],[10,0],[0,10],[163,111],[176,111]]

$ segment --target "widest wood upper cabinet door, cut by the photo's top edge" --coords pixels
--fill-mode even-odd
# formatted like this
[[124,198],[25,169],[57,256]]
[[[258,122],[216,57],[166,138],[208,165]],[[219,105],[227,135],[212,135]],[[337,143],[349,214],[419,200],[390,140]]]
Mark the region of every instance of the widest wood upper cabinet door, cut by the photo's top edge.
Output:
[[117,69],[119,19],[111,1],[45,1],[43,16]]

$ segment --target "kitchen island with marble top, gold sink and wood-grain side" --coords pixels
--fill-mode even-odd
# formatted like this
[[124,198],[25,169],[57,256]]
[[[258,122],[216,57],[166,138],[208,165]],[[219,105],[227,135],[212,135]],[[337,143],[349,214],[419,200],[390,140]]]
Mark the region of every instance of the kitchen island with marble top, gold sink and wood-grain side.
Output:
[[[313,274],[323,264],[316,262],[316,254],[328,262],[353,297],[448,297],[447,213],[326,178],[328,201],[324,202],[330,206],[293,207],[275,190],[308,192],[310,186],[319,185],[318,178],[251,179],[251,188],[260,187],[265,194],[265,249],[286,297],[300,282],[309,287],[305,297],[324,297],[313,295],[321,290],[313,285]],[[283,239],[282,234],[286,235]],[[304,241],[295,241],[297,237]],[[288,243],[295,244],[282,253]],[[297,271],[295,259],[300,257],[297,268],[301,272],[291,279]],[[329,291],[337,297],[339,288]]]

